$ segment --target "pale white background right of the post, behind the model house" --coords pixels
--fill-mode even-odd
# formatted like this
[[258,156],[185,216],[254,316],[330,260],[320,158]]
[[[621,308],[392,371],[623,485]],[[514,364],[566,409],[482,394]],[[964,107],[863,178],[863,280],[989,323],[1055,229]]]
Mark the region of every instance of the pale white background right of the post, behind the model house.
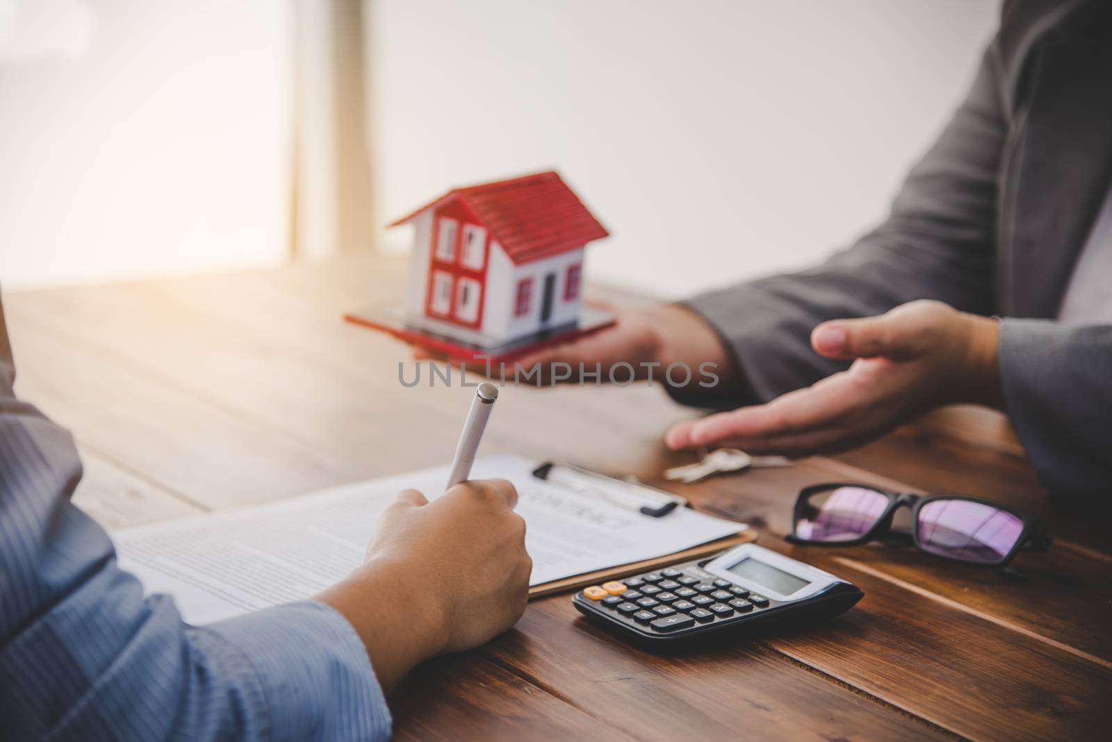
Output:
[[[614,237],[593,280],[677,297],[883,217],[995,0],[369,0],[375,213],[555,167]],[[408,234],[384,235],[399,249]]]

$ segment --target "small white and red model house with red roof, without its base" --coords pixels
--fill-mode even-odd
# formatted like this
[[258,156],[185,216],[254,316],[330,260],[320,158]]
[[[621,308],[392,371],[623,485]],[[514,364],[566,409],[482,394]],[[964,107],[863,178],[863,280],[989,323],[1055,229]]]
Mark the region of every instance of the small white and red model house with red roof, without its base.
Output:
[[479,348],[574,331],[584,248],[607,237],[555,172],[454,189],[405,223],[407,324]]

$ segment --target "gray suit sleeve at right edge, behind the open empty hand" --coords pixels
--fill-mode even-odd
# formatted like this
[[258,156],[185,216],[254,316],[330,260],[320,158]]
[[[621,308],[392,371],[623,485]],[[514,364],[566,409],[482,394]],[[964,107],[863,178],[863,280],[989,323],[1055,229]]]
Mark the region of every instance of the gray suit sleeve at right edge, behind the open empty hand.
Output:
[[1000,382],[1015,432],[1054,492],[1112,482],[1112,324],[1005,319]]

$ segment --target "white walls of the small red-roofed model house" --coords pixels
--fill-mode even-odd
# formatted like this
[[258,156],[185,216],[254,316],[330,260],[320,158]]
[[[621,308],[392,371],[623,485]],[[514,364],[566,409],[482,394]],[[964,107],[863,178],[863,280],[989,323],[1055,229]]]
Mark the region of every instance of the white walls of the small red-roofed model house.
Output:
[[[439,320],[426,313],[428,271],[433,250],[433,209],[425,209],[409,220],[414,245],[409,275],[406,281],[404,307],[407,319],[428,330],[451,335],[464,342],[496,345],[536,332],[543,327],[556,328],[579,317],[579,292],[565,299],[568,268],[583,263],[583,249],[568,250],[549,258],[517,264],[510,260],[497,240],[490,238],[487,257],[486,285],[483,290],[483,322],[478,330]],[[554,275],[552,314],[544,325],[540,313],[544,303],[545,277]],[[517,285],[530,279],[528,309],[518,315]]]

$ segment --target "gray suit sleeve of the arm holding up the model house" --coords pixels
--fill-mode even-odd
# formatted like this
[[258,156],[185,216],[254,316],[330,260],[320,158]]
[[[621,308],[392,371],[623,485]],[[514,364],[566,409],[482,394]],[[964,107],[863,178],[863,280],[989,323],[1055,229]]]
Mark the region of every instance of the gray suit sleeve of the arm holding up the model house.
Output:
[[[811,349],[811,331],[824,320],[881,314],[915,299],[992,311],[995,179],[1006,130],[999,70],[993,42],[969,96],[910,172],[887,219],[853,248],[814,270],[684,302],[731,354],[734,375],[724,378],[712,404],[765,402],[846,368]],[[681,402],[708,401],[669,391]]]

